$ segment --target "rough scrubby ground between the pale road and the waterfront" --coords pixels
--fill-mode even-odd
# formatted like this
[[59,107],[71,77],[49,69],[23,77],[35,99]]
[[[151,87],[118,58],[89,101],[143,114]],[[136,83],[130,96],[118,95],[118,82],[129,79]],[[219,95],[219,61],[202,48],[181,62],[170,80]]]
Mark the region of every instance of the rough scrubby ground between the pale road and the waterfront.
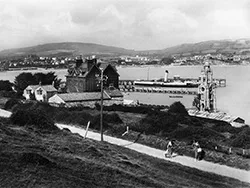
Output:
[[[48,104],[41,104],[41,103],[38,103],[35,105],[27,104],[27,105],[24,105],[23,107],[18,106],[18,108],[14,108],[14,109],[19,109],[19,108],[24,108],[24,109],[31,108],[32,111],[34,109],[44,110],[45,112],[49,112],[49,115],[52,116],[54,121],[59,122],[59,123],[76,124],[78,126],[85,127],[87,125],[87,122],[91,121],[90,129],[98,130],[98,131],[100,129],[100,125],[99,125],[100,116],[99,116],[98,110],[82,109],[82,108],[69,110],[69,109],[53,108],[49,106]],[[125,110],[135,111],[135,109],[125,109]],[[141,109],[140,111],[147,112],[146,109],[144,110]],[[106,116],[107,114],[109,114],[110,116],[109,117]],[[149,114],[152,114],[153,116],[149,117]],[[118,119],[117,119],[117,116],[118,116]],[[145,119],[147,119],[147,121],[145,121]],[[154,119],[156,121],[152,121]],[[144,121],[142,122],[142,120]],[[166,121],[168,121],[168,123],[166,123]],[[138,124],[138,122],[141,122],[141,123]],[[172,138],[175,134],[176,136],[178,136],[178,138],[176,138],[178,140],[177,141],[178,146],[175,147],[175,151],[181,155],[187,155],[187,156],[193,157],[194,152],[191,147],[191,144],[192,144],[193,139],[195,138],[194,136],[199,136],[198,140],[206,151],[205,160],[240,168],[240,169],[245,169],[245,170],[250,169],[250,163],[249,163],[250,158],[243,157],[235,153],[237,152],[237,150],[239,150],[239,152],[242,152],[242,149],[240,150],[240,148],[234,148],[232,150],[233,153],[231,153],[230,155],[228,154],[228,149],[226,148],[228,148],[227,142],[230,140],[227,139],[225,136],[223,136],[222,132],[225,132],[225,131],[235,132],[235,130],[230,125],[227,125],[225,123],[214,122],[214,121],[209,121],[206,119],[193,118],[193,117],[184,118],[184,117],[179,117],[179,115],[177,114],[167,115],[167,116],[163,114],[163,115],[157,116],[157,115],[154,115],[152,111],[147,112],[146,114],[145,113],[141,114],[141,113],[121,112],[121,111],[110,111],[110,112],[105,111],[104,113],[105,134],[109,134],[115,137],[122,137],[121,135],[125,132],[126,126],[129,126],[130,127],[129,134],[127,134],[126,136],[122,138],[131,140],[131,141],[134,141],[135,139],[137,139],[137,136],[139,134],[138,132],[136,132],[137,129],[139,132],[141,131],[144,132],[145,127],[148,127],[149,124],[154,125],[154,126],[156,126],[156,124],[164,125],[161,128],[165,129],[169,125],[172,125],[173,123],[178,123],[178,125],[176,126],[179,127],[179,130],[181,130],[181,132],[173,131],[175,130],[175,127],[173,128],[170,127],[173,130],[170,129],[168,132],[166,132],[167,134],[162,133],[161,131],[160,132],[156,131],[155,133],[146,132],[146,134],[141,134],[137,142],[144,144],[144,145],[148,145],[150,147],[155,147],[158,149],[165,150],[168,139]],[[184,129],[182,129],[183,127]],[[203,130],[203,127],[206,129]],[[199,129],[199,131],[197,131],[197,129]],[[131,131],[131,130],[134,130],[134,131]],[[237,137],[240,137],[240,136],[238,135]],[[215,144],[222,144],[226,147],[224,149],[218,147],[218,150],[215,151],[215,148],[214,148]]]

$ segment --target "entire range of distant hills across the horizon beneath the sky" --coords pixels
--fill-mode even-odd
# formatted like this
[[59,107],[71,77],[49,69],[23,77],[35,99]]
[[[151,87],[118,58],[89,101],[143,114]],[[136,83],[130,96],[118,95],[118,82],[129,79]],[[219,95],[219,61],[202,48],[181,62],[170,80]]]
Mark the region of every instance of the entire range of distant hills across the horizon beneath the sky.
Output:
[[194,55],[207,53],[250,53],[250,39],[237,40],[211,40],[199,43],[181,44],[162,50],[135,51],[114,46],[105,46],[93,43],[49,43],[26,48],[15,48],[0,51],[0,56],[17,56],[37,54],[40,56],[70,56],[70,55],[159,55],[168,56],[174,54]]

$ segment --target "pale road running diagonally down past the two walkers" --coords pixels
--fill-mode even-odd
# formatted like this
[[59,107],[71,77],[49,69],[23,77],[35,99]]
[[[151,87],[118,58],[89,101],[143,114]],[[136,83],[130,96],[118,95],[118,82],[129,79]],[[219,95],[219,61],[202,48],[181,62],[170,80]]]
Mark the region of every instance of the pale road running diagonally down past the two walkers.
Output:
[[[0,109],[0,116],[3,117],[9,117],[11,115],[11,112],[1,110]],[[85,130],[73,125],[65,125],[65,124],[56,124],[60,129],[63,128],[68,128],[72,133],[78,133],[79,135],[83,136],[85,135]],[[95,133],[92,131],[88,131],[87,134],[88,138],[100,141],[100,134]],[[122,147],[126,147],[132,150],[135,150],[137,152],[147,154],[156,158],[164,159],[164,160],[169,160],[175,163],[179,163],[184,166],[196,168],[202,171],[207,171],[207,172],[212,172],[215,174],[219,174],[222,176],[227,176],[231,178],[238,179],[240,181],[248,182],[250,183],[250,171],[246,170],[241,170],[241,169],[236,169],[232,167],[228,167],[225,165],[220,165],[212,162],[207,162],[207,161],[195,161],[194,158],[187,157],[187,156],[176,156],[173,158],[165,158],[164,157],[164,151],[151,148],[142,144],[138,143],[132,143],[127,140],[111,137],[111,136],[106,136],[104,135],[104,141],[109,142],[111,144],[119,145]]]

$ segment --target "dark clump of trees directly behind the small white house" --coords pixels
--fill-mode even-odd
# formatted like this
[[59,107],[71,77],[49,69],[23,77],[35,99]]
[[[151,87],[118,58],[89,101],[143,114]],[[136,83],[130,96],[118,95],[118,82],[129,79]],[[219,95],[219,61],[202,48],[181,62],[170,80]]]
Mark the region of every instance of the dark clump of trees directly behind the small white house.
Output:
[[57,78],[55,72],[35,73],[34,75],[30,72],[21,73],[16,76],[14,85],[18,96],[22,96],[23,90],[29,85],[38,85],[41,82],[42,85],[50,85],[54,83],[55,88],[59,88],[61,79]]

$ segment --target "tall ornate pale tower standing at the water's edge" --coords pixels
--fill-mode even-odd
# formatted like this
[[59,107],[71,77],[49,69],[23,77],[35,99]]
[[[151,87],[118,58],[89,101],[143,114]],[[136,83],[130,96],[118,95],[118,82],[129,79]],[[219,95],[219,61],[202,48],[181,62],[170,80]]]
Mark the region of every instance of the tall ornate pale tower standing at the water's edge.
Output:
[[208,61],[205,62],[200,75],[198,94],[200,111],[214,112],[216,109],[215,83],[213,72]]

